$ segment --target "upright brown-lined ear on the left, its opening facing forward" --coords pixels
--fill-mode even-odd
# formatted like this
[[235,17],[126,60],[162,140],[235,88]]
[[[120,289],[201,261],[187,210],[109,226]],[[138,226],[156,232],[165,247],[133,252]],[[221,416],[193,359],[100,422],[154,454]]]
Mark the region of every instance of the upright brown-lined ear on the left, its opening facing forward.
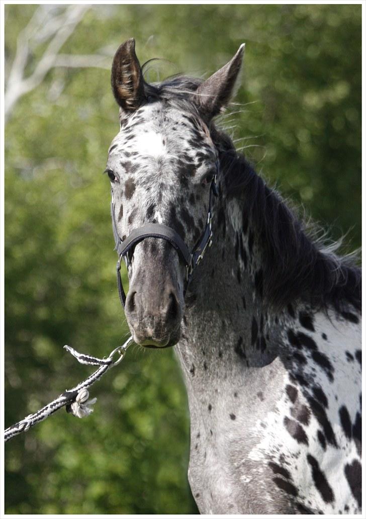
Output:
[[130,38],[118,47],[112,63],[111,84],[114,97],[126,112],[137,110],[145,100],[142,70]]

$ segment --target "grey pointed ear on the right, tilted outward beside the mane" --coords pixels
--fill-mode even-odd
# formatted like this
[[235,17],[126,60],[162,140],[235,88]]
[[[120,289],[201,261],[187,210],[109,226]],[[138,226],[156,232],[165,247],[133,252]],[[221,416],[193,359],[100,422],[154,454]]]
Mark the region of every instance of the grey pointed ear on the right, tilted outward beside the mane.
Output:
[[235,56],[197,88],[194,101],[205,118],[211,119],[218,115],[235,93],[244,47],[245,44],[241,44]]

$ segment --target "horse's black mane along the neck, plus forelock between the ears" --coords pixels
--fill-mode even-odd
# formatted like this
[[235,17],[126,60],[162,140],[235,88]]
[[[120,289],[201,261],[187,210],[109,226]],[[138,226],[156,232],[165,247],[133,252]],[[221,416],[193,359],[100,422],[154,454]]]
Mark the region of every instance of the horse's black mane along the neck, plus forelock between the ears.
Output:
[[[158,98],[198,116],[189,93],[200,83],[198,78],[176,76],[154,85],[153,91]],[[352,305],[361,311],[361,269],[354,257],[338,256],[334,246],[327,248],[279,194],[266,186],[227,134],[212,123],[210,132],[219,151],[223,195],[245,197],[243,227],[250,222],[262,242],[263,292],[268,301],[283,307],[302,299],[319,308],[346,311]]]

